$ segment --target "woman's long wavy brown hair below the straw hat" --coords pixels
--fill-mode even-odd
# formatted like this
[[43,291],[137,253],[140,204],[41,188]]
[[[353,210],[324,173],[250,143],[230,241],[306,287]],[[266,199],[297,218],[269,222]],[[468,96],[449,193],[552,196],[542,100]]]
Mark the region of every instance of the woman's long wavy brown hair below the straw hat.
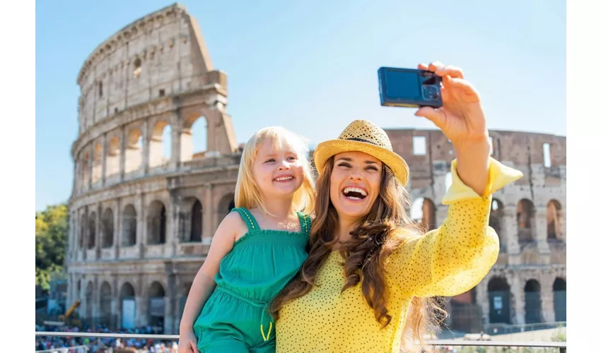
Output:
[[[315,285],[318,270],[325,263],[332,246],[337,244],[334,236],[338,224],[337,210],[329,198],[330,175],[334,166],[334,157],[325,164],[317,178],[317,201],[315,220],[311,227],[308,244],[308,258],[298,275],[272,301],[272,313],[278,318],[279,309],[288,301],[302,297]],[[409,229],[423,234],[421,225],[409,217],[411,201],[409,193],[401,186],[394,174],[384,166],[380,183],[380,194],[374,201],[370,213],[364,217],[361,225],[351,232],[351,239],[341,243],[341,253],[345,259],[344,275],[346,283],[342,291],[361,284],[361,291],[367,303],[373,309],[375,320],[383,327],[388,325],[392,316],[386,307],[386,285],[384,263],[390,253],[402,244],[403,238],[395,232],[397,229]],[[402,345],[411,348],[419,342],[419,349],[426,349],[424,335],[436,328],[433,325],[434,313],[445,314],[436,301],[429,298],[412,299],[407,313]],[[437,315],[438,316],[438,315]]]

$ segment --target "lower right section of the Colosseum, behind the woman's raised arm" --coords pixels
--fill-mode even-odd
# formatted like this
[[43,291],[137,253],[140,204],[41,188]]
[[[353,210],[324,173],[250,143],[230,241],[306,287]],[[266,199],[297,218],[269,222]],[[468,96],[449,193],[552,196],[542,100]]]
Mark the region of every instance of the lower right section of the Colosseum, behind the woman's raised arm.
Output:
[[[524,177],[494,194],[489,224],[501,240],[501,253],[476,288],[450,299],[448,324],[473,331],[482,324],[565,321],[566,138],[489,133],[491,156]],[[440,226],[447,213],[441,201],[455,159],[453,145],[440,131],[389,129],[387,134],[409,164],[414,217]]]

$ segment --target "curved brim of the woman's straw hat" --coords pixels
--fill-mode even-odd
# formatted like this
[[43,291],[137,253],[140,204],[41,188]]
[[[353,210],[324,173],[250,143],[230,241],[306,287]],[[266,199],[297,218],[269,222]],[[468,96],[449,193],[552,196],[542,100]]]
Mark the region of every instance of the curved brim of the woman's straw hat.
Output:
[[329,140],[317,145],[315,152],[313,153],[317,173],[322,174],[323,167],[329,157],[342,152],[363,152],[378,158],[378,160],[382,161],[392,170],[392,173],[395,174],[403,186],[407,186],[407,181],[409,180],[409,167],[407,166],[407,162],[405,162],[401,156],[386,148],[361,141]]

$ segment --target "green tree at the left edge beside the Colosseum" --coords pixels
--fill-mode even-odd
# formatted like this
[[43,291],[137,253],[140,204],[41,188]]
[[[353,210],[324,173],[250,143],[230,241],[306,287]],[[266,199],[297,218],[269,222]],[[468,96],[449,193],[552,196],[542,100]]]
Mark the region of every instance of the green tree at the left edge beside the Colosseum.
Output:
[[35,285],[49,289],[50,274],[64,269],[69,208],[50,205],[35,213]]

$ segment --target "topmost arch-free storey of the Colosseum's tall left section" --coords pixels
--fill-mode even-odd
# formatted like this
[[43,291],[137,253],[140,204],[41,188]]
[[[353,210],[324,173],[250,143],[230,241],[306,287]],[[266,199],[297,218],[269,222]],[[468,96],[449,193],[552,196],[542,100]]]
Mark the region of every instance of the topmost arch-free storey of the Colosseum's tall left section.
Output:
[[83,64],[77,78],[79,131],[129,107],[198,90],[212,70],[199,25],[184,6],[144,16],[105,40]]

